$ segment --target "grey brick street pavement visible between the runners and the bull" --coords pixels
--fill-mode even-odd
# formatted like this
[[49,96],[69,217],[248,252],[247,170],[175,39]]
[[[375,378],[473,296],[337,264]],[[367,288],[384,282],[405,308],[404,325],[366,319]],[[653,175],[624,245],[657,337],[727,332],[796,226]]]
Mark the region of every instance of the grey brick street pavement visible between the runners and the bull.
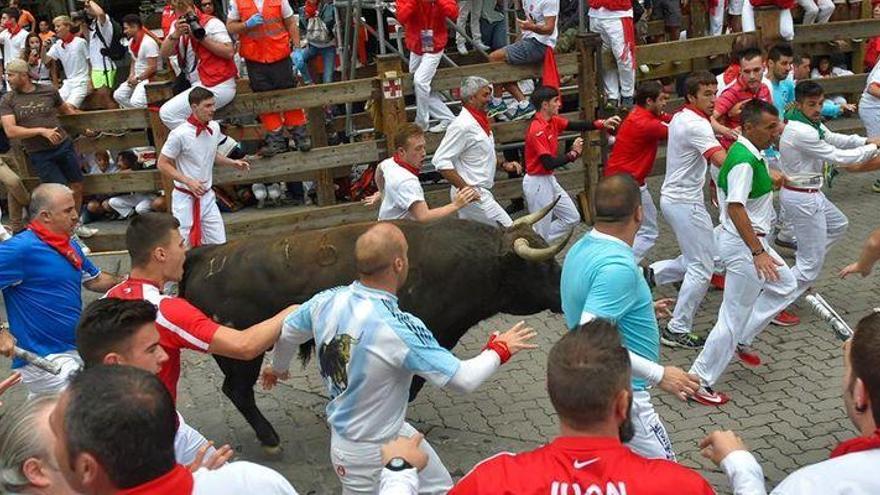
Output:
[[[864,238],[877,225],[871,212],[877,197],[870,191],[873,177],[844,176],[829,197],[850,218],[850,231],[831,252],[816,289],[854,324],[880,295],[874,279],[838,280],[834,274],[854,260]],[[659,180],[650,181],[657,191]],[[659,194],[655,193],[655,199]],[[791,253],[782,252],[789,255]],[[665,224],[649,259],[677,254]],[[792,260],[789,256],[789,263]],[[657,296],[674,296],[658,290]],[[710,291],[697,318],[697,331],[707,332],[715,320],[721,293]],[[805,304],[796,310],[803,323],[794,328],[770,327],[756,340],[765,364],[755,370],[733,363],[717,388],[732,395],[720,408],[688,403],[657,391],[655,404],[666,422],[679,460],[699,469],[728,493],[724,476],[703,461],[697,442],[716,428],[739,432],[755,452],[775,486],[798,466],[827,458],[836,442],[853,435],[840,399],[842,357],[840,344],[824,322]],[[501,450],[533,448],[556,433],[553,410],[544,391],[544,370],[550,346],[564,331],[561,316],[542,313],[526,318],[539,333],[539,348],[517,356],[470,395],[425,387],[411,405],[408,417],[439,452],[453,476],[463,475],[478,460]],[[486,335],[504,329],[516,318],[499,315],[484,321],[455,349],[467,358],[475,355]],[[664,364],[687,367],[694,351],[663,349]],[[228,442],[240,459],[266,463],[284,473],[300,493],[338,493],[328,462],[329,433],[323,419],[326,396],[314,364],[275,391],[257,392],[257,402],[283,439],[283,452],[266,457],[244,419],[220,392],[222,374],[210,358],[186,353],[180,391],[180,410],[187,421],[216,442]],[[3,363],[5,366],[6,363]],[[22,391],[5,397],[15,407]]]

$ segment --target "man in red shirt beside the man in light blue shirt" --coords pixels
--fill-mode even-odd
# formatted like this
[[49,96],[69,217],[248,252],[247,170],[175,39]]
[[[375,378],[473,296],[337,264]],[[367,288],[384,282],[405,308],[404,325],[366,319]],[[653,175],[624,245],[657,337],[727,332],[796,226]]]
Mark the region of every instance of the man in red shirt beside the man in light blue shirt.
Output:
[[720,137],[724,149],[739,137],[742,106],[749,100],[759,99],[773,103],[770,88],[764,84],[764,57],[758,48],[747,48],[739,55],[740,72],[736,81],[715,100],[712,129]]

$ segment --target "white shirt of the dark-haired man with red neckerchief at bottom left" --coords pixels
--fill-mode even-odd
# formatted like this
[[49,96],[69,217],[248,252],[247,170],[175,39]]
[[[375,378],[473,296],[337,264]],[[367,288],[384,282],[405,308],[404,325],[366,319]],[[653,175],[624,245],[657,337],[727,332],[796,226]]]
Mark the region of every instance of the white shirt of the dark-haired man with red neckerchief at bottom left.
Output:
[[193,473],[193,495],[297,495],[276,471],[252,462],[230,462],[218,469]]

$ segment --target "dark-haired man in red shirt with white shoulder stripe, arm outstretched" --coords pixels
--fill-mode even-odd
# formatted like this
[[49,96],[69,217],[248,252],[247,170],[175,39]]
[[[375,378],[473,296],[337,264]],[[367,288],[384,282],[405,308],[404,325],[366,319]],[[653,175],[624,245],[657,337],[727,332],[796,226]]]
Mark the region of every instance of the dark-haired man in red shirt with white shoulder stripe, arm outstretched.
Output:
[[168,361],[162,365],[158,376],[175,400],[181,349],[245,361],[254,359],[278,340],[284,318],[295,309],[291,306],[264,322],[239,331],[218,324],[186,299],[164,295],[162,287],[167,282],[180,282],[183,278],[186,248],[178,225],[177,219],[167,213],[136,216],[125,232],[125,244],[131,256],[131,275],[105,296],[144,299],[156,305],[159,344],[168,354]]

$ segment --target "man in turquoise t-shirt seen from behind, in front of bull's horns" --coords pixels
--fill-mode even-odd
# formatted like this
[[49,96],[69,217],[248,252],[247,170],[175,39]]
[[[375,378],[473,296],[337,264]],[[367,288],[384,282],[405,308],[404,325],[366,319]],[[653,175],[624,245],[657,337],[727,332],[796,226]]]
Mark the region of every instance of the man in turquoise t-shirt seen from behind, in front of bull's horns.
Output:
[[[649,390],[661,389],[685,400],[699,388],[697,377],[660,361],[657,311],[651,289],[636,264],[632,243],[642,223],[639,185],[626,174],[603,177],[596,188],[596,224],[579,240],[562,265],[562,310],[568,328],[595,318],[614,321],[632,362],[635,431],[629,447],[648,458],[675,460],[666,428],[651,403]],[[623,435],[622,435],[623,436]]]

